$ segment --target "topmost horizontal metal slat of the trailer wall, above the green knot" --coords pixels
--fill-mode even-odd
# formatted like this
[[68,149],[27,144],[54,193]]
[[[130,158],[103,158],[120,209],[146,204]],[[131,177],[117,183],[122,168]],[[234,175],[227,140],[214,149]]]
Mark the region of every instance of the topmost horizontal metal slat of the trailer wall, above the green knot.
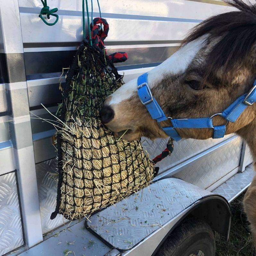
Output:
[[[225,12],[231,7],[221,6],[225,3],[216,0],[129,0],[129,1],[101,1],[100,8],[103,18],[110,15],[137,15],[137,16],[155,16],[155,17],[174,17],[187,19],[205,19],[210,15]],[[40,13],[42,4],[40,1],[28,2],[19,0],[21,12]],[[78,15],[82,11],[82,1],[59,1],[52,0],[50,8],[57,7],[60,13]],[[26,9],[25,9],[25,8]],[[98,17],[98,4],[93,0],[94,17]],[[21,9],[22,8],[22,9]],[[90,6],[89,6],[90,9]],[[118,13],[118,14],[117,14]],[[81,15],[81,14],[80,14]],[[113,17],[113,16],[112,16]],[[116,17],[116,16],[114,16]],[[117,16],[118,17],[118,16]],[[42,22],[42,21],[41,21]]]

